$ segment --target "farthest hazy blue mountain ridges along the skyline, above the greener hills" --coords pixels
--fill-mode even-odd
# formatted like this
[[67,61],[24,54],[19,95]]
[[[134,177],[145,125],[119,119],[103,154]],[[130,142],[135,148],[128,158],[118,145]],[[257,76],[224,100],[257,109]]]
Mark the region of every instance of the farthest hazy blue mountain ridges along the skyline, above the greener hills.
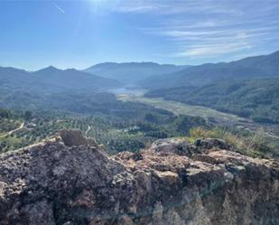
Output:
[[239,61],[176,66],[154,62],[105,62],[86,70],[60,70],[53,66],[37,71],[0,67],[1,89],[116,89],[137,85],[146,89],[202,87],[217,80],[279,77],[279,51]]

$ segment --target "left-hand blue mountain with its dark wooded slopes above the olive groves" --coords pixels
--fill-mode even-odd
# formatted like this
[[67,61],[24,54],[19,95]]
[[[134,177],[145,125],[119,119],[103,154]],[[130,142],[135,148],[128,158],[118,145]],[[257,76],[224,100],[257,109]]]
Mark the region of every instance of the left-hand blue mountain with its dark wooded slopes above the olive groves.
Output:
[[[122,86],[118,80],[101,78],[74,69],[59,70],[51,66],[27,72],[0,68],[0,107],[31,110],[66,108],[64,106],[81,108],[79,103],[83,100],[87,102],[87,108],[90,108],[92,98],[98,92]],[[83,98],[85,96],[87,98]]]

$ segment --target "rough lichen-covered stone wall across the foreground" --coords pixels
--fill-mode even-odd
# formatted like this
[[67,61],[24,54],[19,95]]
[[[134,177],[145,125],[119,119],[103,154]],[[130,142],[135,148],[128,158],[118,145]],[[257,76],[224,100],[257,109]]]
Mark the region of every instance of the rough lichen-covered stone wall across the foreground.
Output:
[[279,224],[277,161],[218,139],[114,156],[72,144],[0,155],[0,224]]

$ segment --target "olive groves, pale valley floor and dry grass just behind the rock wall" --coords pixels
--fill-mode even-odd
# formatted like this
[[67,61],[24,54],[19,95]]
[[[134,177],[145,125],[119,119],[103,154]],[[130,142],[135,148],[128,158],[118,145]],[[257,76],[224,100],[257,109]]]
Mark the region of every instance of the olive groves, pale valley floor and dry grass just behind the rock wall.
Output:
[[[120,96],[117,99],[107,93],[82,98],[77,93],[65,93],[49,104],[53,104],[51,110],[40,105],[36,110],[0,109],[3,134],[0,152],[41,142],[61,128],[79,128],[85,136],[105,145],[108,153],[137,151],[158,138],[188,136],[189,141],[200,137],[222,138],[246,155],[278,157],[277,142],[266,136],[264,130],[252,132],[223,126],[228,123],[217,123],[216,119],[235,123],[242,120],[214,109],[163,98]],[[23,122],[24,127],[17,129]],[[10,134],[11,130],[15,132]]]

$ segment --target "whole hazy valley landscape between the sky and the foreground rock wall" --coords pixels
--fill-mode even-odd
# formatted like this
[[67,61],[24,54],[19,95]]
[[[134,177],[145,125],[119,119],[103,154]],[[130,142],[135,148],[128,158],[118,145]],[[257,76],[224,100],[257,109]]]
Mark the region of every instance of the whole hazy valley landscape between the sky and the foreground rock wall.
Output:
[[[243,61],[250,61],[249,67],[255,69],[256,61],[276,61],[277,54]],[[198,133],[208,137],[222,134],[224,138],[233,137],[234,145],[255,142],[259,133],[268,154],[262,152],[263,147],[259,150],[260,145],[252,152],[275,156],[279,146],[276,123],[279,80],[268,74],[266,79],[256,76],[249,80],[219,80],[213,76],[222,65],[221,68],[233,71],[229,78],[237,72],[234,66],[239,63],[243,65],[242,61],[192,67],[147,62],[103,63],[81,71],[52,66],[32,72],[0,68],[0,78],[4,80],[0,83],[0,107],[10,108],[12,115],[15,112],[19,115],[4,114],[0,118],[5,125],[0,131],[0,151],[42,142],[62,128],[80,129],[85,136],[94,137],[98,144],[104,145],[109,154],[136,152],[160,138],[186,136],[192,140],[192,133],[198,129]],[[269,68],[276,69],[274,61],[268,63]],[[180,86],[183,82],[178,82],[169,88],[167,84],[171,81],[168,81],[162,83],[163,89],[156,89],[157,84],[173,73],[187,75],[191,70],[202,78],[206,75],[203,69],[208,67],[212,71],[211,83]],[[181,75],[175,75],[172,81],[178,77],[189,84],[188,78]],[[144,79],[150,79],[148,83],[154,86],[145,87]],[[24,127],[20,127],[22,123]]]

